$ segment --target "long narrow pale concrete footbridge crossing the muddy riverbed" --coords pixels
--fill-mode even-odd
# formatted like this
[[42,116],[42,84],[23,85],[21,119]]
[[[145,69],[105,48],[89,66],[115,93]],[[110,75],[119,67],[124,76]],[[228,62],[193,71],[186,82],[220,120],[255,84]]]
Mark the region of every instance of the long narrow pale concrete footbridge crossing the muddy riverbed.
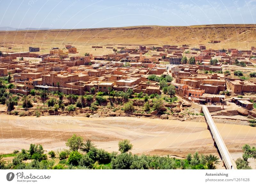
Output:
[[204,113],[204,117],[206,119],[206,123],[208,126],[208,129],[211,130],[212,138],[214,145],[218,148],[223,164],[226,166],[227,169],[237,169],[236,163],[233,161],[230,153],[228,152],[228,149],[220,136],[220,132],[218,131],[215,122],[212,119],[212,116],[208,110],[208,108],[203,105],[202,110]]

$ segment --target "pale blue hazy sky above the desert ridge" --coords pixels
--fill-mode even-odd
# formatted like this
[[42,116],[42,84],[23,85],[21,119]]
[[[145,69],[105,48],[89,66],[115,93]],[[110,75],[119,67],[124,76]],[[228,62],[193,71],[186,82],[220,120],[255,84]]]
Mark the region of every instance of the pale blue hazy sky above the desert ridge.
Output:
[[99,28],[254,24],[256,0],[0,0],[0,26]]

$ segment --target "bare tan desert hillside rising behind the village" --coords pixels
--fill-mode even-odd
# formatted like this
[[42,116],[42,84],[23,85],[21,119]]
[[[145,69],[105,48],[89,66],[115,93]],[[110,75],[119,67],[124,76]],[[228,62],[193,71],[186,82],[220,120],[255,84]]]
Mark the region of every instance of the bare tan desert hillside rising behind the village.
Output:
[[[0,46],[40,48],[88,45],[206,45],[207,48],[248,49],[256,46],[254,25],[132,26],[74,30],[1,31]],[[220,43],[209,43],[211,40]],[[0,50],[1,50],[0,47]],[[2,49],[4,50],[4,49]]]

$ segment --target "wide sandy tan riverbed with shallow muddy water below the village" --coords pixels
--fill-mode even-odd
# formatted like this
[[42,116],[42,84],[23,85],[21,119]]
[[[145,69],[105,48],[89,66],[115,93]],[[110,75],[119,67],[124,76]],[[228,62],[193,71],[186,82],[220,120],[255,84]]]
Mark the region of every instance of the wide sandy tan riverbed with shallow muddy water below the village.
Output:
[[[75,133],[109,152],[118,151],[119,140],[129,139],[133,144],[132,153],[185,157],[198,151],[218,155],[204,122],[137,117],[1,115],[0,127],[0,153],[28,149],[31,143],[42,144],[47,151],[66,148],[65,142]],[[242,156],[244,144],[256,145],[256,128],[223,123],[217,123],[217,127],[235,159]],[[252,164],[256,167],[254,161]]]

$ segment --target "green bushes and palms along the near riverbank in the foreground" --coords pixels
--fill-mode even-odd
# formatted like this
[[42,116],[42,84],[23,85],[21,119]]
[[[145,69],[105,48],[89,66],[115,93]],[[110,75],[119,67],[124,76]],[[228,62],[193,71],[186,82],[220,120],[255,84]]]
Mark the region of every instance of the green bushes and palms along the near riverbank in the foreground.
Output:
[[[12,162],[5,162],[0,156],[1,169],[215,169],[219,158],[212,154],[199,155],[198,152],[188,154],[186,159],[177,159],[167,156],[134,155],[129,152],[132,144],[129,140],[120,141],[119,151],[109,153],[96,148],[90,140],[83,143],[83,138],[73,135],[68,139],[70,150],[50,151],[52,159],[47,159],[41,145],[31,144],[28,151],[22,149],[15,154]],[[80,149],[80,150],[79,150]],[[84,149],[84,152],[81,153]],[[244,145],[243,158],[255,157],[255,147]],[[56,164],[58,159],[59,163]],[[30,163],[25,162],[32,159]],[[249,163],[244,159],[237,159],[238,169],[250,169]]]

